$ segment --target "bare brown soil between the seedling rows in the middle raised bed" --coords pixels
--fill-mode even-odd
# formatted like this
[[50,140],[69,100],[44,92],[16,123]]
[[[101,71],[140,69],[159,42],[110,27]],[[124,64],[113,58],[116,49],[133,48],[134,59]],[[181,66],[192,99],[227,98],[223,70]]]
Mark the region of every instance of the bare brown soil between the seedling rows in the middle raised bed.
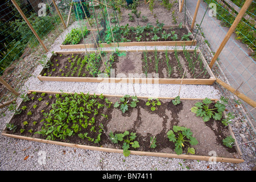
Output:
[[[113,62],[109,60],[110,55],[114,56]],[[174,52],[168,52],[169,64],[172,67],[171,75],[168,73],[167,63],[166,63],[166,55],[164,52],[157,52],[157,57],[159,59],[158,64],[158,72],[155,69],[155,52],[147,52],[147,63],[148,63],[148,71],[147,73],[158,73],[159,78],[182,78],[184,69],[186,68],[186,73],[184,78],[210,78],[209,73],[204,68],[204,64],[201,59],[197,59],[199,54],[195,55],[194,52],[190,52],[190,58],[194,64],[194,71],[192,71],[188,62],[185,61],[187,58],[185,57],[183,52],[178,52],[180,67],[176,60]],[[77,56],[77,59],[76,59]],[[105,68],[102,65],[102,60],[95,59],[94,61],[94,74],[92,74],[92,68],[87,69],[87,64],[82,67],[81,72],[79,73],[80,64],[77,65],[78,59],[84,59],[85,53],[80,54],[69,54],[69,55],[56,55],[51,59],[51,64],[49,68],[43,69],[40,73],[42,76],[51,76],[51,77],[97,77],[100,73],[105,73]],[[75,61],[76,59],[76,61]],[[118,77],[118,74],[125,74],[126,77],[129,76],[129,73],[133,74],[142,74],[145,73],[145,65],[144,62],[144,53],[143,52],[126,52],[125,56],[118,56],[117,53],[106,53],[106,55],[102,55],[102,59],[108,61],[106,68],[115,69],[115,77]],[[151,61],[150,61],[151,60]],[[75,63],[71,68],[71,64]],[[75,69],[77,69],[75,71]],[[109,73],[110,76],[110,73]],[[147,76],[148,77],[148,76]]]

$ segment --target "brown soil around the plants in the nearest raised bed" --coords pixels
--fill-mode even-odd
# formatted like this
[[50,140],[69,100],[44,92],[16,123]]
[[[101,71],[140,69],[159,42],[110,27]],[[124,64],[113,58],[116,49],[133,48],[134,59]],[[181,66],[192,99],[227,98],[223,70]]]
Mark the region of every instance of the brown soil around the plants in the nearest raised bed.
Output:
[[[49,98],[49,96],[52,96],[52,98]],[[54,104],[56,101],[55,94],[45,94],[45,96],[41,96],[41,93],[29,94],[28,97],[31,99],[34,97],[34,100],[30,100],[27,102],[22,102],[20,104],[19,109],[23,106],[27,106],[27,109],[22,111],[22,113],[18,115],[14,115],[14,117],[11,119],[10,123],[14,123],[14,125],[17,126],[17,129],[15,132],[9,131],[7,129],[8,133],[16,134],[16,135],[23,135],[26,137],[35,137],[35,138],[41,138],[46,139],[43,135],[34,134],[36,131],[40,131],[41,127],[44,126],[43,123],[47,123],[46,121],[42,121],[44,119],[43,113],[48,113],[52,106],[51,104]],[[42,101],[38,101],[38,98],[42,97]],[[108,97],[110,101],[114,102],[119,101],[119,98],[117,97]],[[97,101],[104,104],[104,100],[100,100],[97,98]],[[48,102],[48,105],[46,104]],[[89,130],[89,127],[87,129],[82,129],[76,135],[72,137],[67,137],[64,140],[56,138],[57,141],[60,142],[67,142],[67,143],[75,143],[75,144],[85,144],[89,146],[103,146],[103,147],[111,147],[111,148],[119,148],[122,149],[122,142],[119,142],[118,144],[113,144],[108,134],[110,131],[113,131],[114,134],[116,133],[123,133],[125,130],[129,131],[129,133],[133,132],[136,133],[137,140],[139,142],[139,148],[130,148],[130,150],[138,150],[138,151],[150,151],[150,152],[172,152],[174,153],[174,143],[170,142],[167,138],[167,132],[168,130],[172,130],[172,127],[174,125],[180,125],[180,114],[184,115],[187,113],[187,106],[184,108],[184,103],[187,103],[188,101],[182,100],[181,104],[174,106],[172,104],[171,100],[160,100],[161,105],[157,107],[155,111],[151,111],[150,106],[146,106],[146,99],[139,99],[139,102],[137,104],[137,107],[131,108],[126,111],[126,113],[122,113],[122,111],[118,108],[114,108],[113,105],[109,109],[100,109],[97,115],[94,115],[96,122],[94,123],[95,129],[100,128],[100,123],[104,126],[104,132],[102,132],[100,143],[93,143],[89,142],[88,139],[81,139],[77,137],[77,134],[79,133],[88,133],[88,135],[91,138],[96,138],[98,133],[94,133]],[[197,101],[189,101],[194,105]],[[37,107],[34,109],[33,106],[37,105]],[[187,105],[187,104],[186,104]],[[188,106],[188,108],[191,106]],[[184,110],[185,109],[185,110]],[[44,110],[42,112],[42,110]],[[27,112],[31,111],[32,115],[27,115]],[[185,113],[184,113],[185,112]],[[78,113],[79,114],[79,113]],[[101,116],[101,114],[107,114],[108,119]],[[118,115],[118,118],[117,118]],[[92,117],[92,114],[88,114],[88,117]],[[135,117],[134,117],[135,116]],[[152,122],[153,119],[153,123]],[[201,120],[199,117],[193,117],[191,118],[193,121],[196,119]],[[28,125],[24,126],[23,122],[27,121]],[[40,122],[41,121],[41,122]],[[160,121],[160,122],[159,122]],[[36,122],[36,123],[34,123]],[[183,120],[183,123],[185,121]],[[187,121],[190,122],[190,121]],[[203,127],[203,130],[205,125],[214,132],[215,136],[208,134],[209,139],[217,138],[217,144],[219,147],[223,148],[223,154],[221,155],[225,156],[225,153],[228,152],[228,156],[232,156],[231,153],[236,153],[235,148],[228,148],[225,147],[222,144],[222,139],[226,137],[226,134],[228,133],[228,128],[224,128],[224,125],[221,124],[221,122],[214,121],[213,119],[209,122],[206,122],[204,125],[203,121],[200,121],[202,123],[202,126],[195,126],[195,129],[191,128],[191,131],[193,135],[196,135],[196,128],[199,130],[202,130],[201,127]],[[72,123],[71,123],[72,124]],[[129,126],[127,126],[129,125]],[[216,127],[213,127],[213,125],[217,125]],[[117,127],[115,127],[117,126]],[[118,127],[120,129],[118,129]],[[125,128],[126,127],[126,128]],[[186,127],[186,126],[185,126]],[[24,129],[24,132],[20,134],[20,129]],[[29,132],[29,130],[32,129],[32,133]],[[195,134],[194,132],[195,131]],[[150,137],[156,137],[156,148],[149,148],[150,146]],[[196,136],[195,136],[196,137]],[[205,138],[196,137],[196,139],[200,142],[204,142]],[[208,143],[210,144],[210,143]],[[216,143],[215,143],[216,144]],[[193,147],[193,146],[192,146]],[[209,150],[212,150],[209,148]],[[199,151],[199,153],[197,153]],[[207,148],[203,149],[203,151],[208,151]],[[208,155],[203,154],[200,152],[200,150],[196,149],[196,155]]]

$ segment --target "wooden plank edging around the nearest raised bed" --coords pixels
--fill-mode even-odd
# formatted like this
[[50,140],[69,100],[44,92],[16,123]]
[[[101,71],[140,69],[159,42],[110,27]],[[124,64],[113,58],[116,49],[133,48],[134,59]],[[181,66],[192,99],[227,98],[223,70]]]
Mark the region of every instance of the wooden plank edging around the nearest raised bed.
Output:
[[[28,90],[27,94],[30,94],[32,92],[39,92],[39,93],[48,93],[48,94],[60,94],[62,92],[50,92],[50,91],[42,91],[42,90]],[[64,92],[67,93],[67,92]],[[73,94],[73,93],[71,93]],[[78,93],[80,94],[80,93]],[[90,94],[93,95],[93,94]],[[96,94],[97,96],[100,96],[100,94]],[[114,96],[114,95],[105,95],[105,97],[122,97],[122,96]],[[148,98],[148,97],[142,97],[138,96],[138,98]],[[158,97],[160,99],[173,99],[170,97]],[[181,100],[202,100],[201,98],[180,98]],[[212,99],[213,101],[217,101],[217,99]],[[14,115],[9,119],[9,122],[14,117]],[[8,123],[9,123],[8,122]],[[5,127],[6,130],[6,127]],[[230,131],[230,130],[229,130]],[[15,139],[23,139],[23,140],[30,140],[33,142],[41,142],[41,143],[47,143],[47,144],[57,144],[59,146],[65,146],[65,147],[73,147],[73,148],[81,148],[85,150],[94,150],[94,151],[102,151],[102,152],[114,152],[122,154],[123,150],[115,149],[115,148],[105,148],[105,147],[94,147],[94,146],[87,146],[82,144],[73,144],[73,143],[65,143],[65,142],[57,142],[53,140],[46,140],[46,139],[39,139],[39,138],[32,138],[32,137],[24,137],[20,135],[13,135],[8,134],[6,131],[2,131],[2,135],[5,137],[15,138]],[[236,139],[236,138],[235,138]],[[237,146],[238,147],[238,146]],[[170,154],[170,153],[162,153],[162,152],[144,152],[144,151],[133,151],[130,150],[131,155],[143,155],[143,156],[156,156],[156,157],[163,157],[163,158],[177,158],[177,159],[189,159],[189,160],[204,160],[208,162],[226,162],[226,163],[242,163],[244,162],[243,159],[236,159],[236,158],[222,158],[222,157],[214,157],[213,156],[201,156],[201,155],[187,155],[187,154]]]

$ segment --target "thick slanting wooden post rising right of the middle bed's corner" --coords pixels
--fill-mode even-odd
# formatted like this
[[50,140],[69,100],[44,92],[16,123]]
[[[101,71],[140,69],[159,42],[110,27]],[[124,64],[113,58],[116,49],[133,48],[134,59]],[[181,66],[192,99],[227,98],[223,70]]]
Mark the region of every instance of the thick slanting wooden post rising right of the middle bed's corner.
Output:
[[220,55],[222,49],[225,47],[226,43],[228,42],[230,36],[233,34],[234,30],[237,27],[237,24],[240,22],[240,20],[243,18],[243,15],[245,14],[245,12],[247,11],[248,7],[251,5],[251,2],[253,2],[253,0],[246,0],[245,4],[243,5],[242,9],[240,10],[240,12],[238,13],[236,19],[234,20],[232,26],[229,28],[228,33],[226,34],[225,38],[222,40],[222,43],[220,44],[220,47],[218,47],[217,52],[215,53],[212,61],[210,61],[209,67],[212,68],[213,64],[215,63],[215,61],[217,60],[218,56]]

